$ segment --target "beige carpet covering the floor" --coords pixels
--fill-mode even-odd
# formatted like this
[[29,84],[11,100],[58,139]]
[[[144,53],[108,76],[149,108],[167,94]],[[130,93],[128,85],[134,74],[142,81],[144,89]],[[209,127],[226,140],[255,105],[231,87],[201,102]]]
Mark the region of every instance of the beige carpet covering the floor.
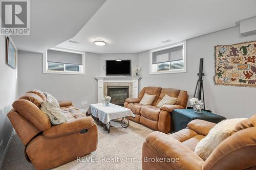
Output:
[[[98,126],[98,148],[87,159],[84,158],[83,162],[75,160],[55,169],[141,169],[142,144],[153,131],[132,121],[126,129],[119,123],[111,122],[111,126],[109,134]],[[11,141],[5,160],[4,170],[10,169],[34,169],[25,159],[24,146],[17,135]]]

